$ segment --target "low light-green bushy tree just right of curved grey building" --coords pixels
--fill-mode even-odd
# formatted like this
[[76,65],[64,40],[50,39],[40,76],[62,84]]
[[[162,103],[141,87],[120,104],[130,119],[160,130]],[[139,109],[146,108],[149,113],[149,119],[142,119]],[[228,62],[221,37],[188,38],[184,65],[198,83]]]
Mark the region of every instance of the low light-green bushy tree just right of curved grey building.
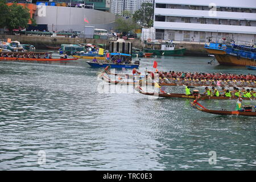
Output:
[[139,25],[133,21],[133,19],[123,19],[123,18],[118,18],[116,20],[117,22],[117,30],[120,32],[129,32],[133,31],[136,28],[139,28]]

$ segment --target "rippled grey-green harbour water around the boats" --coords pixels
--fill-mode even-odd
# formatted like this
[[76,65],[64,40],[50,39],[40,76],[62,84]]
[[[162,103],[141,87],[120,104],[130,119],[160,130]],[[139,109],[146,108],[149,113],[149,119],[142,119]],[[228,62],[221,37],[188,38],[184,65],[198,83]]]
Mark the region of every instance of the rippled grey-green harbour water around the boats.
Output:
[[[166,71],[253,72],[207,64],[211,59],[141,59],[139,70],[151,69],[156,60],[158,69]],[[133,86],[102,83],[100,71],[85,60],[0,61],[0,169],[256,169],[255,118],[201,113],[190,106],[191,100],[125,93]],[[109,93],[99,91],[106,88]],[[181,93],[184,88],[168,91]],[[236,108],[236,101],[201,104]],[[210,151],[216,152],[216,164],[208,162]],[[45,164],[40,163],[42,152]]]

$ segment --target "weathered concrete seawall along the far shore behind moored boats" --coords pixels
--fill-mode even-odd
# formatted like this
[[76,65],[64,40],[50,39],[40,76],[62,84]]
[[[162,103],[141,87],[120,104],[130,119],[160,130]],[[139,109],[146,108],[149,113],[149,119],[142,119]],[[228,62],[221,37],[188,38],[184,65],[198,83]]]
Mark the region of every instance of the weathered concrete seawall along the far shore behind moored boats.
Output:
[[[91,44],[106,44],[108,49],[111,40],[106,39],[84,39],[84,38],[64,38],[64,37],[49,37],[49,36],[27,36],[27,35],[0,35],[1,39],[10,38],[17,40],[21,44],[32,44],[37,49],[46,49],[46,46],[60,46],[61,44],[78,44],[78,43],[91,43]],[[144,47],[141,40],[129,40],[133,43],[134,47]],[[202,43],[184,43],[177,42],[177,46],[187,48],[185,56],[207,56],[208,53],[204,49]]]

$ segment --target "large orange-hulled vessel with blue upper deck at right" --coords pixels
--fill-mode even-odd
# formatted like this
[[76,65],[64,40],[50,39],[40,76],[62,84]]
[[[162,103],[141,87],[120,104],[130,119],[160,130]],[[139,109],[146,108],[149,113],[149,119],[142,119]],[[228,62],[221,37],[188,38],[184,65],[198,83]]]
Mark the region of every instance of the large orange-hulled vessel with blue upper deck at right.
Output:
[[216,57],[219,64],[256,66],[256,48],[222,43],[206,43],[204,48]]

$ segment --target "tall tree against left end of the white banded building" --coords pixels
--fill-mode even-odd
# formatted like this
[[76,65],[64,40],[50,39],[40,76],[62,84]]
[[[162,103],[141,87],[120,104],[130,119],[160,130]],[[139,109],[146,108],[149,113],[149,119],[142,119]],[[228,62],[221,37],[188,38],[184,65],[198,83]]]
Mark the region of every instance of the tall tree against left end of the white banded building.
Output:
[[141,9],[135,11],[133,14],[133,19],[141,24],[144,28],[149,28],[153,26],[154,23],[154,9],[152,3],[142,3]]

